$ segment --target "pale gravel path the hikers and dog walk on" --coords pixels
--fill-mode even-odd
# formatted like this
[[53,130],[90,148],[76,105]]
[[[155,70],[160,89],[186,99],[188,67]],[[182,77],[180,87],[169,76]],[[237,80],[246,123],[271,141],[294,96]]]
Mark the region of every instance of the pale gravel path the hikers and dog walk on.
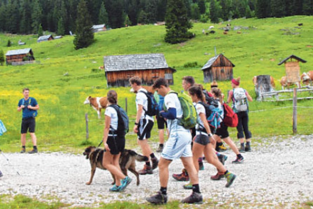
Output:
[[[225,165],[237,174],[230,188],[225,180],[211,181],[216,173],[213,166],[204,163],[205,171],[199,172],[200,189],[206,202],[214,205],[241,204],[266,207],[283,203],[292,207],[296,201],[313,201],[313,135],[268,138],[253,147],[253,152],[244,153],[245,162],[232,165],[235,159],[232,151],[226,151]],[[82,150],[83,152],[83,150]],[[98,206],[99,202],[115,200],[145,202],[145,198],[159,189],[158,169],[154,174],[140,176],[141,184],[136,186],[135,176],[123,193],[108,191],[111,175],[97,170],[90,186],[85,182],[90,177],[89,161],[83,155],[66,153],[19,154],[4,153],[0,156],[0,194],[23,194],[49,201],[58,197],[62,202],[74,206]],[[158,155],[159,157],[159,155]],[[137,170],[143,163],[137,162]],[[170,200],[183,199],[190,191],[182,189],[185,182],[177,182],[171,176],[182,169],[180,160],[170,166],[168,196]],[[248,205],[247,205],[248,206]]]

